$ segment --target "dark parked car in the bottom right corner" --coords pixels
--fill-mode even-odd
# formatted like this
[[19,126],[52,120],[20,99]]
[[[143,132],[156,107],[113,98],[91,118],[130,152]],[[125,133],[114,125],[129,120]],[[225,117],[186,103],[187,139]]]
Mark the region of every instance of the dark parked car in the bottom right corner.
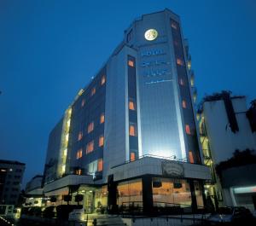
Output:
[[207,218],[207,225],[236,225],[236,223],[254,225],[251,224],[253,221],[253,214],[243,206],[220,207],[218,212],[212,213]]

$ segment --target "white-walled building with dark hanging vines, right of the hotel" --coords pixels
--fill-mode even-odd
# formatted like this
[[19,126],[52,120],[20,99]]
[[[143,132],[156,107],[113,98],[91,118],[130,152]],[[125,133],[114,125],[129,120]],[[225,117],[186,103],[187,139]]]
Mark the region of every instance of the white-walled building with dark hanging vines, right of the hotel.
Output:
[[202,101],[201,144],[205,164],[212,169],[207,190],[218,206],[256,208],[256,162],[225,169],[221,180],[215,171],[216,165],[228,161],[236,150],[256,151],[255,110],[255,104],[247,109],[245,96],[230,96],[227,91]]

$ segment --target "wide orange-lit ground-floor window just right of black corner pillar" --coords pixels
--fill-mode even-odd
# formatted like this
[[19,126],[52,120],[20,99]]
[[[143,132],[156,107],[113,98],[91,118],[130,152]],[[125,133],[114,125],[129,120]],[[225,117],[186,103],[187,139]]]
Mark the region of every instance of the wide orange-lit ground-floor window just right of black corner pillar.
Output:
[[189,183],[182,179],[153,178],[154,206],[191,206]]

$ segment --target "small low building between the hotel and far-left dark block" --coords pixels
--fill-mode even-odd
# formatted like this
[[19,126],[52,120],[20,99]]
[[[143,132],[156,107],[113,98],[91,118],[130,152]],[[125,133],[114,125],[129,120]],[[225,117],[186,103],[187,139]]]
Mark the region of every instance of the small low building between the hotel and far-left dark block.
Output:
[[44,204],[43,175],[36,175],[26,183],[26,206],[42,206]]

